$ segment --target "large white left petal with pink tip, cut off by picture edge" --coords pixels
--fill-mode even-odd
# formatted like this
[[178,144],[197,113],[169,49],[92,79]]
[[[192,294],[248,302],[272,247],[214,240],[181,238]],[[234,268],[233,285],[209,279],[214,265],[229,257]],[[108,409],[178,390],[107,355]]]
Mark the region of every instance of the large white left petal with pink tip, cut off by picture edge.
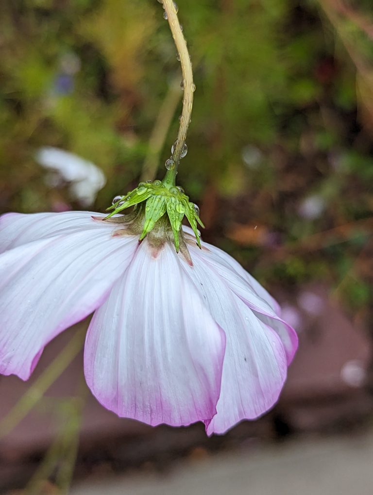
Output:
[[104,227],[1,254],[0,373],[29,378],[45,345],[103,303],[137,246]]

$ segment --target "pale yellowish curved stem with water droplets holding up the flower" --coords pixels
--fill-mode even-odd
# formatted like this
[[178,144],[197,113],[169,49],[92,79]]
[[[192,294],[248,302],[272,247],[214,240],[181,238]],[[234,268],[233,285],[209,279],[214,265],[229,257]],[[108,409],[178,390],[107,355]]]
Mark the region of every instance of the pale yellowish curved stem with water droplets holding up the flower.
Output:
[[192,63],[190,61],[187,44],[181,30],[179,19],[177,18],[173,0],[163,0],[163,8],[167,14],[168,24],[179,54],[184,85],[183,110],[180,118],[179,133],[177,135],[177,142],[172,153],[172,159],[175,163],[174,171],[176,173],[180,161],[180,154],[184,147],[188,132],[190,116],[193,108],[193,93],[195,86],[193,83]]

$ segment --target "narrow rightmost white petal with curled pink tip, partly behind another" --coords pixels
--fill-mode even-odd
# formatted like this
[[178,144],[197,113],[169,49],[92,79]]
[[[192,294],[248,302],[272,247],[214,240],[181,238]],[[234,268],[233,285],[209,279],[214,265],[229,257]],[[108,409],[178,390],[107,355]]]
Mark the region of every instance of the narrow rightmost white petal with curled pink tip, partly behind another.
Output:
[[231,256],[209,244],[204,243],[203,246],[204,249],[202,250],[197,249],[194,245],[190,249],[193,262],[196,256],[206,262],[226,282],[229,288],[254,311],[257,317],[278,334],[285,348],[287,364],[289,365],[298,348],[298,336],[295,330],[278,316],[280,310],[274,309],[274,299]]

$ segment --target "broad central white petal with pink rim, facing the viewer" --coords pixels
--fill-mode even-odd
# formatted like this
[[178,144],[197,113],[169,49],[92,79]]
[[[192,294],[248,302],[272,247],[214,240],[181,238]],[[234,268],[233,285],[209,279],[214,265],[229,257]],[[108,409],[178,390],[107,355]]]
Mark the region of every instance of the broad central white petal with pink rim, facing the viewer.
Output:
[[168,244],[154,257],[145,240],[87,334],[93,394],[119,416],[150,425],[210,419],[220,394],[225,335],[181,260]]

